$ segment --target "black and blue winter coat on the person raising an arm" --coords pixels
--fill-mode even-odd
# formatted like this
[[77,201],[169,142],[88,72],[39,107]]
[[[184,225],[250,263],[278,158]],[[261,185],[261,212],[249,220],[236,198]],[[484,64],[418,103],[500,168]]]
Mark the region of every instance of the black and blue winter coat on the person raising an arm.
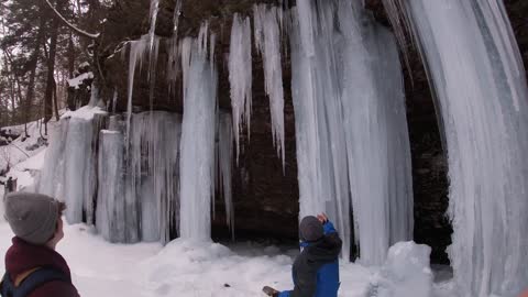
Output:
[[279,297],[337,297],[339,289],[339,253],[341,239],[331,222],[323,226],[324,237],[314,243],[301,243],[302,252],[294,262],[294,290]]

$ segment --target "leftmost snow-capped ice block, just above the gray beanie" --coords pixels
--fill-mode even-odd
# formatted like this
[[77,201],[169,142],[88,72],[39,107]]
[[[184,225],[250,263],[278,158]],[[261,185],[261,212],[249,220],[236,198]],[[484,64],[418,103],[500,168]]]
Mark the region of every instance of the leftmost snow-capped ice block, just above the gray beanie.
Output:
[[63,116],[61,128],[52,135],[54,145],[46,153],[36,190],[65,201],[69,223],[94,222],[98,131],[105,118],[98,108],[85,107]]

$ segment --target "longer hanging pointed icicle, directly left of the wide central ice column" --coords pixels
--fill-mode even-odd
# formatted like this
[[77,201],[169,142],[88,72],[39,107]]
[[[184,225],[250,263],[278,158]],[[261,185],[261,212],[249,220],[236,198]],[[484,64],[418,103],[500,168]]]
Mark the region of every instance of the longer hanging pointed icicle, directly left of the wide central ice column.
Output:
[[277,154],[283,161],[283,170],[286,166],[284,146],[284,88],[283,64],[280,61],[280,28],[279,13],[276,7],[255,4],[254,28],[255,45],[262,54],[264,64],[265,89],[270,97],[272,113],[273,142]]

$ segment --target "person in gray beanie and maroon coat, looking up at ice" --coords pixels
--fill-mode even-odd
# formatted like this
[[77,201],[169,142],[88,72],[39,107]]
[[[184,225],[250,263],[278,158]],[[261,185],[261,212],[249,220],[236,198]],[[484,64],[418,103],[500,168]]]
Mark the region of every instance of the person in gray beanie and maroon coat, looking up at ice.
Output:
[[64,238],[62,216],[66,206],[32,193],[9,194],[3,204],[14,238],[6,254],[1,295],[78,297],[69,267],[55,251]]

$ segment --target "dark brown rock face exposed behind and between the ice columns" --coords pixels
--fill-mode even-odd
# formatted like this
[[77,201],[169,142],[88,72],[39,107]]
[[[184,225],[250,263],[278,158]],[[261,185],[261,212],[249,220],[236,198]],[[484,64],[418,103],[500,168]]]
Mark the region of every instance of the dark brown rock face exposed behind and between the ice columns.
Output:
[[[161,0],[156,34],[173,36],[175,0]],[[231,22],[234,13],[252,15],[254,3],[279,4],[278,0],[201,0],[183,1],[178,35],[196,36],[202,21],[208,20],[210,31],[217,34],[216,59],[219,69],[219,106],[230,110],[230,88],[227,73]],[[293,4],[294,1],[280,1]],[[389,26],[381,0],[366,0],[376,20]],[[506,0],[525,66],[528,65],[528,2]],[[113,112],[127,109],[128,50],[125,41],[136,40],[148,31],[148,1],[116,1],[108,16],[105,32],[98,40],[98,57],[102,81],[100,94],[108,102],[117,95]],[[183,112],[182,91],[168,92],[166,84],[167,48],[161,43],[154,88],[154,109]],[[286,43],[285,43],[286,44]],[[415,50],[409,48],[409,68],[405,69],[407,119],[413,153],[415,193],[415,241],[432,248],[433,263],[449,263],[446,248],[451,243],[452,232],[446,217],[448,200],[447,157],[442,148],[435,103],[427,81],[424,65]],[[121,50],[121,51],[119,51]],[[124,53],[122,52],[124,51]],[[290,98],[290,66],[283,63],[285,87],[286,170],[277,157],[272,141],[268,98],[264,91],[264,75],[261,58],[253,50],[253,114],[251,142],[242,133],[243,150],[233,170],[233,200],[235,234],[297,238],[298,183],[295,144],[295,114]],[[136,70],[134,79],[134,110],[150,109],[148,84],[145,70]],[[218,199],[213,223],[213,237],[227,232],[223,204]]]

